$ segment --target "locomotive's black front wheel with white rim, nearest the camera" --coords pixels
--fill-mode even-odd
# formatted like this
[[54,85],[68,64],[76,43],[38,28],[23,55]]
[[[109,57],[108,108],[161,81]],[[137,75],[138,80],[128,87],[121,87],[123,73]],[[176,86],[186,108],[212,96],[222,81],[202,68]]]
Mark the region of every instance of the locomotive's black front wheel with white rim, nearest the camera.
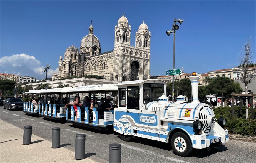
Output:
[[187,157],[192,153],[192,145],[187,135],[182,132],[173,134],[171,138],[173,153],[178,156]]

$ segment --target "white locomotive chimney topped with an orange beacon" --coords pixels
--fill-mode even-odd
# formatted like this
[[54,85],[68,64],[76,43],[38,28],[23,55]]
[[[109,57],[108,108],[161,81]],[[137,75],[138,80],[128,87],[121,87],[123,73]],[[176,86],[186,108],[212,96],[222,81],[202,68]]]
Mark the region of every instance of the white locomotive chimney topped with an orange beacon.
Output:
[[190,76],[189,80],[191,81],[191,89],[192,89],[192,102],[191,104],[199,104],[198,100],[198,80],[199,76],[196,75],[195,72],[192,73],[192,76]]

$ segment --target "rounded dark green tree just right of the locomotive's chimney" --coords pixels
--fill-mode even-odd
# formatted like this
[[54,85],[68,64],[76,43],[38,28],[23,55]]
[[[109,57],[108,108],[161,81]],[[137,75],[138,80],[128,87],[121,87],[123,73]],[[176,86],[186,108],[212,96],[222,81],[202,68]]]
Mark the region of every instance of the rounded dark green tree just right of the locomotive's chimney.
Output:
[[214,78],[213,81],[207,85],[207,89],[209,93],[216,94],[217,96],[221,96],[221,93],[223,93],[224,97],[230,97],[233,91],[235,93],[242,92],[240,84],[227,77]]

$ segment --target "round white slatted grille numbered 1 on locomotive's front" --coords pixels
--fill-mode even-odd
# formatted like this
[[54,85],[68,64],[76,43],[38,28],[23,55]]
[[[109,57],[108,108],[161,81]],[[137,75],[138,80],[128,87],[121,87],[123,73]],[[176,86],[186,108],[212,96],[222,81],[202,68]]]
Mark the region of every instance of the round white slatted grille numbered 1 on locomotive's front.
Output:
[[212,118],[214,117],[213,109],[204,106],[200,109],[198,120],[203,123],[202,130],[204,133],[209,133],[213,127]]

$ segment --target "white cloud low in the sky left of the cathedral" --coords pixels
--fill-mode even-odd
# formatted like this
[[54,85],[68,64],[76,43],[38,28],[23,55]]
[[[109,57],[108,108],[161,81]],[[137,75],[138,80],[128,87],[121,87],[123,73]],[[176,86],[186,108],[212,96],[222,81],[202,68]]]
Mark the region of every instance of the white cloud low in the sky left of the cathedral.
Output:
[[[38,59],[24,53],[12,56],[3,56],[0,58],[1,73],[13,73],[16,75],[32,76],[41,79],[45,78],[45,72],[43,72],[43,69],[44,66]],[[58,67],[55,70],[48,69],[47,78],[51,78],[55,72],[58,72]]]

